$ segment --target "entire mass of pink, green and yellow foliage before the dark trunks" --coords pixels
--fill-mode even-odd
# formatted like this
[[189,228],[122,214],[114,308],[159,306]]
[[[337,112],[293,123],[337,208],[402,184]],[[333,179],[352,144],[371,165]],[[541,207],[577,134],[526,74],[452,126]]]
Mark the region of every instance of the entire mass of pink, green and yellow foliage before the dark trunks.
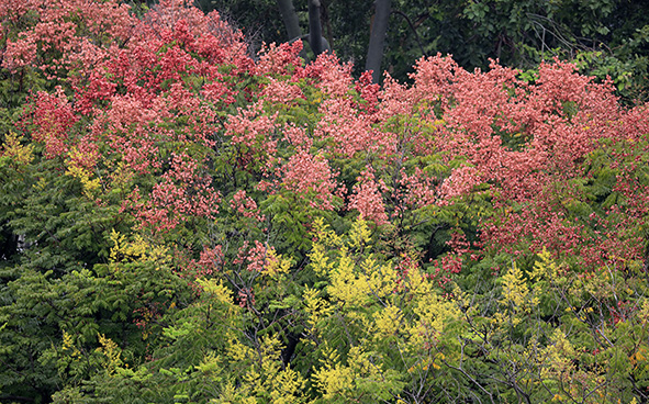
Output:
[[649,400],[649,115],[559,60],[0,4],[0,400]]

